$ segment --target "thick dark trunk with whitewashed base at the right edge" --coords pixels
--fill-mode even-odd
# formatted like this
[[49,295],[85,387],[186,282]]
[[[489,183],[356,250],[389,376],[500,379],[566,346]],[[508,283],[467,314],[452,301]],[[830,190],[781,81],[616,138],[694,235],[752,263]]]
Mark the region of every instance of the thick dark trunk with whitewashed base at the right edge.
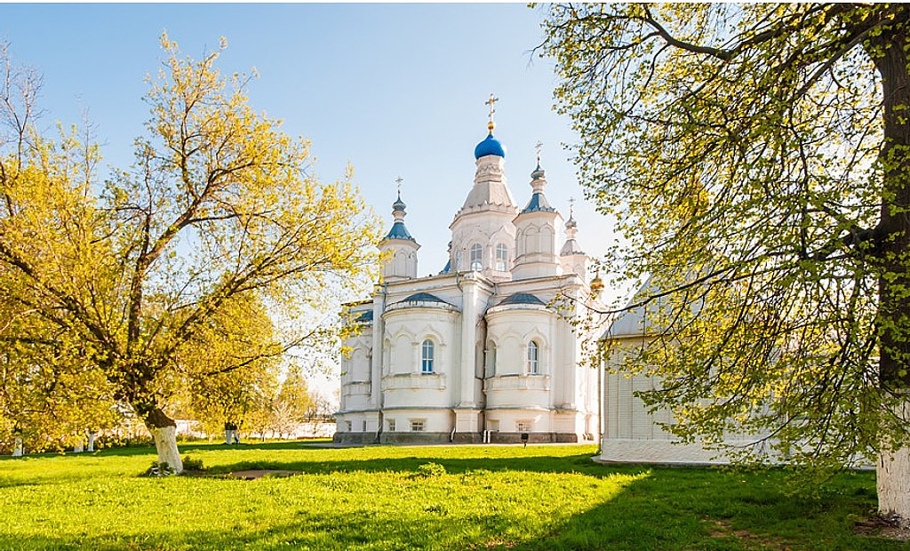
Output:
[[[883,414],[897,414],[906,423],[906,413],[910,412],[910,120],[906,111],[910,106],[910,9],[895,5],[891,10],[891,23],[867,43],[867,52],[882,77],[885,138],[880,155],[882,205],[873,266],[879,276],[879,386],[883,397],[899,398],[895,410]],[[878,510],[908,525],[910,447],[893,449],[889,434],[883,426],[876,469]]]

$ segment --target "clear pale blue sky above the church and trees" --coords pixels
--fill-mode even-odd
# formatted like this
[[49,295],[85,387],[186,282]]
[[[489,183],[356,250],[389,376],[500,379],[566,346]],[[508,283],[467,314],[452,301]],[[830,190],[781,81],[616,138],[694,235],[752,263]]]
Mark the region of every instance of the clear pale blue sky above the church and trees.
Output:
[[[521,4],[6,4],[0,39],[16,62],[44,75],[42,125],[78,123],[87,111],[105,164],[125,167],[147,118],[143,78],[157,70],[157,37],[167,30],[184,54],[199,57],[225,36],[221,70],[256,67],[251,105],[312,141],[321,179],[339,178],[350,162],[387,226],[394,180],[404,179],[425,275],[446,262],[448,225],[472,183],[491,92],[501,99],[496,136],[508,149],[516,201],[531,195],[538,140],[551,202],[567,216],[570,197],[582,197],[561,145],[574,141],[569,121],[551,109],[551,61],[531,54],[542,17]],[[609,221],[582,201],[576,219],[582,247],[606,250]]]

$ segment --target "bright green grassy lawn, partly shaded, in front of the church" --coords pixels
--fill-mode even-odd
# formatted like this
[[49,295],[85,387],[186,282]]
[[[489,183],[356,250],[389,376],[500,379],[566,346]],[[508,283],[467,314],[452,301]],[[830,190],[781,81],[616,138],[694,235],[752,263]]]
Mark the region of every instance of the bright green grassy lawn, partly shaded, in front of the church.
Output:
[[[138,476],[149,448],[0,459],[0,548],[910,548],[854,534],[872,473],[810,498],[779,470],[602,466],[592,446],[182,449],[205,475]],[[223,476],[251,468],[301,474]]]

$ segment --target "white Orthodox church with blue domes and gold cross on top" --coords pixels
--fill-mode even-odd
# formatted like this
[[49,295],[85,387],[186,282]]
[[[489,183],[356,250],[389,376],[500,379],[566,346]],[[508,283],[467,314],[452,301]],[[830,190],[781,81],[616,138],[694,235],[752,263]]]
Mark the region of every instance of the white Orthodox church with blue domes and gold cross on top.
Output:
[[[406,205],[379,243],[382,281],[349,305],[359,333],[345,345],[335,440],[342,443],[593,442],[597,370],[581,363],[571,320],[602,289],[588,257],[531,171],[519,208],[506,181],[506,148],[489,133],[449,226],[449,261],[418,277],[420,244]],[[467,188],[467,186],[466,186]],[[418,236],[419,237],[419,236]],[[593,292],[591,289],[593,288]]]

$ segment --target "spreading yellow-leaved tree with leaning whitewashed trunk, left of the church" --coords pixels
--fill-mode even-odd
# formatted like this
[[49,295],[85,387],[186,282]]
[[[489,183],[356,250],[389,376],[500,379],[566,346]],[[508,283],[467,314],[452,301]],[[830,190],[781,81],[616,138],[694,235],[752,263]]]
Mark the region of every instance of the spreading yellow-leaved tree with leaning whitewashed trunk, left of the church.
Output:
[[78,343],[179,472],[167,407],[193,339],[228,305],[261,301],[283,350],[305,341],[308,319],[369,284],[378,226],[350,174],[317,181],[308,142],[248,106],[248,77],[217,71],[223,41],[201,61],[161,45],[136,162],[103,183],[86,138],[37,131],[38,79],[5,56],[0,275],[15,284],[0,300]]

